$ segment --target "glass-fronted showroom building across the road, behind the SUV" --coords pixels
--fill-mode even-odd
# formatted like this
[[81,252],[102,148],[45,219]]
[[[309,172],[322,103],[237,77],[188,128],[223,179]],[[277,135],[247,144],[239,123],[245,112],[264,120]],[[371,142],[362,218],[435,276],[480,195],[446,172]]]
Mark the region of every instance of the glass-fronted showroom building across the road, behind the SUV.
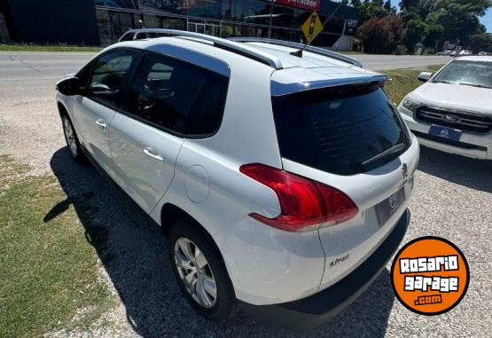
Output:
[[[103,44],[129,28],[175,28],[208,35],[268,37],[301,42],[301,24],[316,10],[325,21],[313,44],[349,50],[359,10],[327,0],[94,0]],[[273,4],[273,8],[271,7]],[[336,11],[336,12],[335,12]]]

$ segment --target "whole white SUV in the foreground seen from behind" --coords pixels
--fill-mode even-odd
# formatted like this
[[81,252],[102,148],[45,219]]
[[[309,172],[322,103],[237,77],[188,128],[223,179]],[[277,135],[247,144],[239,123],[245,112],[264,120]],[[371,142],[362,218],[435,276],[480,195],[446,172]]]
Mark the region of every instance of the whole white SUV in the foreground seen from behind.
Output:
[[410,222],[419,147],[387,76],[297,43],[160,33],[58,83],[70,153],[162,226],[206,318],[322,323]]

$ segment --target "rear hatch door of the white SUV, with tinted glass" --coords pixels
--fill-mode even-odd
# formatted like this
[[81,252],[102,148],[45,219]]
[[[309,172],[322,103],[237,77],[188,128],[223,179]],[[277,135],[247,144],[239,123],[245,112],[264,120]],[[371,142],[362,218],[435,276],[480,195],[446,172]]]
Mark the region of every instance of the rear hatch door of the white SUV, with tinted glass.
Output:
[[387,238],[408,207],[418,166],[417,140],[379,81],[364,79],[322,88],[307,83],[272,97],[284,169],[339,189],[359,209],[348,222],[319,230],[322,289]]

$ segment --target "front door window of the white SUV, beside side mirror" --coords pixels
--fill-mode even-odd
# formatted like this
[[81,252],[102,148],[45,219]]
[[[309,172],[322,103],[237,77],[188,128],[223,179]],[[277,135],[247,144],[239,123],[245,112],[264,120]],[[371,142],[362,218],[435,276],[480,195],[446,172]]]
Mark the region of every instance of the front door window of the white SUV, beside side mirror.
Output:
[[89,96],[115,105],[136,55],[136,51],[113,51],[94,61],[88,86]]

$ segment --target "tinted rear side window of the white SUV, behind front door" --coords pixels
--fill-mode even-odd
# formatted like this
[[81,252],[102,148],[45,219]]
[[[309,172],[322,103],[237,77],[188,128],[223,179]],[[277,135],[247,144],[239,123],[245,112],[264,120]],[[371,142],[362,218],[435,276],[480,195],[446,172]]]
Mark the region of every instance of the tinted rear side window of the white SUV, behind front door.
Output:
[[221,120],[227,78],[160,55],[147,55],[129,92],[129,114],[167,130],[202,135]]

